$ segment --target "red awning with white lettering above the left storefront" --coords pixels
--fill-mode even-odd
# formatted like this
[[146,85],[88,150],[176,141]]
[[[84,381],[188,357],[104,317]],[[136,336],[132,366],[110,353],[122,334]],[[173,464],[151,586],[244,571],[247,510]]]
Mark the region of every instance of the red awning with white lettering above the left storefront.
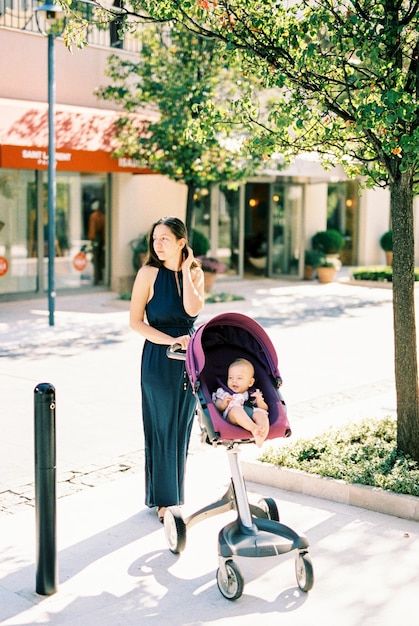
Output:
[[[116,121],[121,113],[63,104],[55,105],[57,170],[131,172],[151,170],[132,158],[115,158]],[[133,114],[143,133],[154,114]],[[48,104],[0,98],[0,167],[48,168]]]

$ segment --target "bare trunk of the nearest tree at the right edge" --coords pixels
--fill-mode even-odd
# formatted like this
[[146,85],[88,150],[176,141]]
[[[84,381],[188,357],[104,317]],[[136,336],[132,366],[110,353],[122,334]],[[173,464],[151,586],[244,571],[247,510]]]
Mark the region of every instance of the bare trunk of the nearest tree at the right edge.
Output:
[[393,320],[397,445],[419,462],[419,391],[414,298],[413,181],[402,173],[390,185],[393,230]]

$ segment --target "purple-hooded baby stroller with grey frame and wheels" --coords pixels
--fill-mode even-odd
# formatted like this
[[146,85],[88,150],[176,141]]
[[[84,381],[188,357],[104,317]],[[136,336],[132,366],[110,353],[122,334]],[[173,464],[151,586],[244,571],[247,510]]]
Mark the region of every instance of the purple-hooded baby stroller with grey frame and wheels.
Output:
[[244,579],[233,556],[265,557],[296,550],[295,571],[302,591],[313,586],[313,566],[308,540],[279,522],[273,498],[263,498],[258,505],[248,501],[238,460],[239,444],[252,443],[250,433],[227,422],[212,402],[212,391],[223,385],[229,363],[238,357],[249,359],[255,368],[255,386],[261,389],[269,407],[268,439],[289,437],[285,402],[279,392],[282,383],[275,348],[255,320],[240,313],[225,313],[203,324],[192,337],[186,354],[168,350],[171,358],[186,358],[186,370],[199,401],[198,416],[202,441],[226,447],[231,483],[216,502],[196,511],[186,519],[179,507],[166,510],[164,528],[169,549],[178,554],[186,544],[186,530],[198,522],[226,511],[236,510],[237,518],[221,529],[218,536],[219,568],[217,585],[228,600],[243,593]]

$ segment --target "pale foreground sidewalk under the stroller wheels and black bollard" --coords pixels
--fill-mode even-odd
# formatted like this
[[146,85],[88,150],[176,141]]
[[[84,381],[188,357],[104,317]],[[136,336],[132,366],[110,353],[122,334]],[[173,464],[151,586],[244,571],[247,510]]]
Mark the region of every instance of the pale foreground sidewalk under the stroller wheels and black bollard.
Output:
[[[191,456],[185,512],[218,498],[225,456]],[[224,453],[225,454],[225,453]],[[418,524],[331,501],[248,484],[273,497],[281,519],[307,535],[315,582],[299,590],[294,556],[235,558],[244,593],[216,585],[217,535],[232,513],[197,524],[173,555],[139,476],[121,476],[58,501],[59,586],[34,591],[33,512],[0,518],[0,622],[4,626],[403,626],[417,624]]]

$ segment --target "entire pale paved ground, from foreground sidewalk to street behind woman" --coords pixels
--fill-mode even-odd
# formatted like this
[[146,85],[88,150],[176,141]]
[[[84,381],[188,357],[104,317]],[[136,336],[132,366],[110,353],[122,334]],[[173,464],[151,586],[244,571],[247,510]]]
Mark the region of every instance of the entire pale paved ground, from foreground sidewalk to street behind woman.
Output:
[[[219,282],[245,300],[207,305],[200,322],[237,310],[266,328],[278,352],[294,436],[395,411],[391,290],[268,279]],[[180,556],[143,505],[138,398],[141,340],[115,294],[0,303],[0,623],[5,626],[416,626],[417,522],[248,483],[310,541],[315,583],[302,593],[294,553],[235,559],[243,596],[217,589],[217,535],[234,515],[188,531]],[[59,587],[35,593],[33,390],[57,391]],[[280,445],[280,443],[278,444]],[[255,447],[243,449],[252,459]],[[220,497],[224,450],[195,429],[185,514]]]

